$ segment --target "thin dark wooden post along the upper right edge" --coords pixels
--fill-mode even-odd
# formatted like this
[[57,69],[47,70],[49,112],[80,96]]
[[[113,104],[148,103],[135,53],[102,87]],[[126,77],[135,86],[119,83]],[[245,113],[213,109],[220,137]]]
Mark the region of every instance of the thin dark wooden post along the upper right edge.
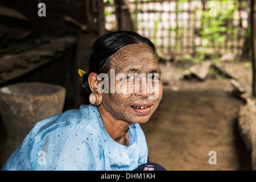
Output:
[[253,37],[253,96],[256,96],[256,2],[251,0],[251,28]]

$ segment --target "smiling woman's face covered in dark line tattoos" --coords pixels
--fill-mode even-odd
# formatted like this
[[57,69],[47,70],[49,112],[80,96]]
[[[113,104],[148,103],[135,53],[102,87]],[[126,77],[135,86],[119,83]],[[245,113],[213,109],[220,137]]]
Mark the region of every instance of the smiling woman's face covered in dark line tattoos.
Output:
[[147,44],[133,44],[115,53],[110,63],[109,93],[102,93],[102,106],[114,119],[147,122],[163,94],[154,51]]

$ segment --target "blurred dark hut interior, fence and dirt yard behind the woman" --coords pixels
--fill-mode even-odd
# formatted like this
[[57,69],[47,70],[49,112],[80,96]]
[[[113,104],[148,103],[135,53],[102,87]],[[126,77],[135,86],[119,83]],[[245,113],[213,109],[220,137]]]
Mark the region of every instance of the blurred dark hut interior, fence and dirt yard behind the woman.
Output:
[[[0,0],[0,167],[36,122],[85,104],[77,73],[88,69],[82,58],[99,36],[129,30],[155,44],[162,69],[163,99],[142,125],[148,160],[168,170],[254,169],[253,142],[244,139],[250,131],[239,124],[256,90],[254,6],[253,0]],[[51,113],[55,106],[42,102],[55,89],[29,90],[32,100],[40,95],[32,102],[23,97],[26,89],[9,87],[28,82],[64,88],[64,102],[50,99],[60,110]],[[29,117],[20,119],[28,112],[21,107]],[[209,164],[209,151],[216,151],[217,164]]]

